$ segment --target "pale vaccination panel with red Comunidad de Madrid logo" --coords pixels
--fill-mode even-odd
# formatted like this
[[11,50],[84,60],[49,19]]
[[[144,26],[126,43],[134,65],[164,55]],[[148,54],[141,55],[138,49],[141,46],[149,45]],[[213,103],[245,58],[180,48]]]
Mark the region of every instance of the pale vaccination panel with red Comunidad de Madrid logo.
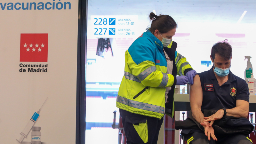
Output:
[[[42,144],[75,144],[78,0],[0,5],[0,143],[19,144],[48,97],[34,124]],[[31,143],[31,131],[22,143]]]

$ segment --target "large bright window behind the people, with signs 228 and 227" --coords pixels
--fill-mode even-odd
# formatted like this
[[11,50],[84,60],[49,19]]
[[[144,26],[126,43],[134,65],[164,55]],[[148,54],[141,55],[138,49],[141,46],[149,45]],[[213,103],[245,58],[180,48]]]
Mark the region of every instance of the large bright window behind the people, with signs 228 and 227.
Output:
[[178,28],[172,37],[178,43],[176,51],[187,58],[197,73],[212,67],[212,45],[226,40],[233,48],[230,70],[244,79],[244,56],[251,56],[252,66],[256,68],[254,8],[252,0],[89,1],[86,143],[100,144],[96,137],[101,134],[106,143],[117,143],[118,130],[112,129],[111,124],[115,110],[116,123],[119,122],[116,96],[124,75],[124,53],[150,27],[150,12],[170,15],[177,22]]

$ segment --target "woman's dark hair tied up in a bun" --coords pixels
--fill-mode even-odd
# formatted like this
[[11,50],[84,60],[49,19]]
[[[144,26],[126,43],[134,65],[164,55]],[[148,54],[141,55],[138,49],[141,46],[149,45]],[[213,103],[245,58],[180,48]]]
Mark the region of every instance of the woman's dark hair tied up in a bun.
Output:
[[169,15],[156,15],[154,12],[149,14],[149,19],[152,21],[150,28],[152,34],[157,30],[160,33],[167,33],[173,28],[177,28],[177,23]]

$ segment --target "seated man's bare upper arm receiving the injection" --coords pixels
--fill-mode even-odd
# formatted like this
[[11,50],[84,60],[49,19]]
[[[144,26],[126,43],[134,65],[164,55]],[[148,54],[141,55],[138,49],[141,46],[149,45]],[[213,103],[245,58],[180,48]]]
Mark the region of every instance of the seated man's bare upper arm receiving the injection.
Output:
[[195,108],[201,109],[203,102],[203,90],[201,86],[200,77],[198,75],[194,77],[194,84],[190,84],[189,101],[192,111]]

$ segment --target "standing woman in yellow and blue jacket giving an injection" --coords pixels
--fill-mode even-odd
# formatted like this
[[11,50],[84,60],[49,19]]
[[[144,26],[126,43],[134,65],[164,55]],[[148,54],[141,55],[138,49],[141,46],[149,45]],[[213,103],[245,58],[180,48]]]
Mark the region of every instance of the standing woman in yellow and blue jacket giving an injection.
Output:
[[125,52],[116,99],[127,144],[156,144],[164,114],[174,114],[175,85],[193,84],[196,75],[186,58],[176,52],[172,36],[177,24],[172,17],[151,12],[149,18],[151,27]]

